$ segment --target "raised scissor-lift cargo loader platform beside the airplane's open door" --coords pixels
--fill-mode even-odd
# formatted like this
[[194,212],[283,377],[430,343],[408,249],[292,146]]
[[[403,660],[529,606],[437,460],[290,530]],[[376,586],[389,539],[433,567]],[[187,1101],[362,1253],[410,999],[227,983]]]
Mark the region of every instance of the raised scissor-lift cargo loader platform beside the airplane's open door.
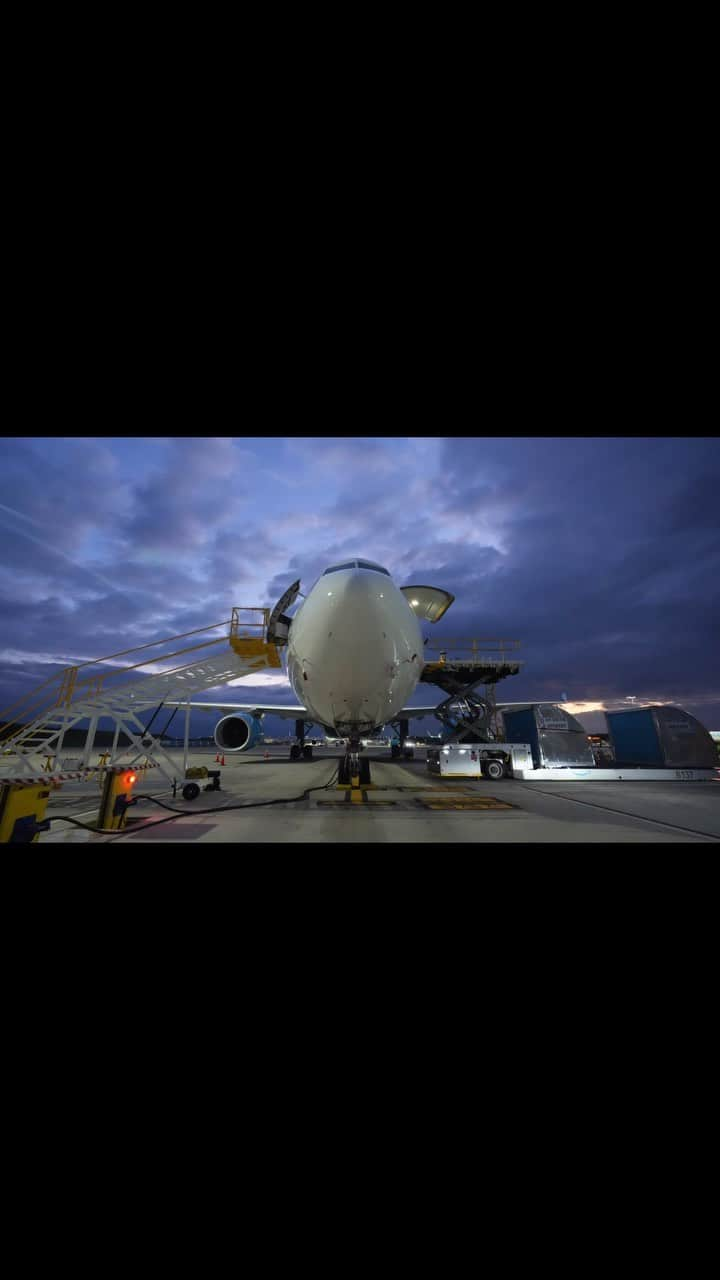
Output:
[[[496,685],[524,666],[515,657],[519,645],[519,640],[428,641],[420,680],[447,694],[434,710],[446,742],[492,742],[500,736]],[[436,659],[430,653],[438,648]]]

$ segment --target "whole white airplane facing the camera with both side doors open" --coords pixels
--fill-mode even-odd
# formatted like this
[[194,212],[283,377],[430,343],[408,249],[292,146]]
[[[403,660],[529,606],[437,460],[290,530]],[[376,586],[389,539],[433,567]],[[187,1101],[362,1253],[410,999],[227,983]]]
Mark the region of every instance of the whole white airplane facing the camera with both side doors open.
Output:
[[392,755],[407,754],[407,721],[429,716],[433,707],[407,707],[424,667],[420,621],[438,622],[455,596],[434,586],[396,586],[387,568],[350,558],[329,564],[296,613],[300,581],[281,596],[268,620],[268,641],[286,658],[287,676],[299,699],[295,707],[259,703],[168,703],[202,710],[225,710],[215,726],[223,751],[247,751],[263,741],[265,714],[295,719],[291,760],[311,759],[305,730],[319,724],[345,744],[338,782],[370,781],[360,759],[361,739],[392,723],[398,744]]

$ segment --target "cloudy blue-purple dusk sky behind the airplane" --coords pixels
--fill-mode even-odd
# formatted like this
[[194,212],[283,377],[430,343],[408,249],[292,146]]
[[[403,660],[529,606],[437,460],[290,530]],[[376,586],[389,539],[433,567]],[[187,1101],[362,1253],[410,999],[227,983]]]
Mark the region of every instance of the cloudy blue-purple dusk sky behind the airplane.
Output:
[[[0,710],[59,667],[272,605],[363,556],[456,595],[433,640],[523,641],[503,699],[632,695],[720,728],[715,440],[32,438],[3,453]],[[272,673],[232,696],[295,700]]]

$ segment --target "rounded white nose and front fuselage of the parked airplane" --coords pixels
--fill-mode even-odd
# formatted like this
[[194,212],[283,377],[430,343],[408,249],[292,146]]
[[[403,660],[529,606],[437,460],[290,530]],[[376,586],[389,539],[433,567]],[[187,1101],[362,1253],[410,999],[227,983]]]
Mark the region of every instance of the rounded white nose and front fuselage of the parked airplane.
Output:
[[327,571],[292,620],[292,687],[319,723],[342,735],[396,716],[423,666],[420,623],[379,568]]

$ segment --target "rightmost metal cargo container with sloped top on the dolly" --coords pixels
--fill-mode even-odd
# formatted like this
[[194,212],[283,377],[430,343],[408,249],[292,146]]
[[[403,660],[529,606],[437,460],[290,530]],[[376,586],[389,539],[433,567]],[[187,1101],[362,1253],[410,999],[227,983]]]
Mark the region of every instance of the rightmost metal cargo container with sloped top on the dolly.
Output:
[[619,765],[712,769],[717,764],[710,733],[680,707],[634,707],[605,714]]

